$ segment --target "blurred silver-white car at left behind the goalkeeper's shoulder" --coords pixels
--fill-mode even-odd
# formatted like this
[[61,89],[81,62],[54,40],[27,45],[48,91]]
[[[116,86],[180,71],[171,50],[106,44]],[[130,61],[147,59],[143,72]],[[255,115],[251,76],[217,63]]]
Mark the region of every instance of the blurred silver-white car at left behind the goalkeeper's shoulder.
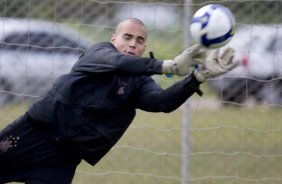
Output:
[[0,19],[0,105],[37,97],[70,71],[91,42],[54,22]]

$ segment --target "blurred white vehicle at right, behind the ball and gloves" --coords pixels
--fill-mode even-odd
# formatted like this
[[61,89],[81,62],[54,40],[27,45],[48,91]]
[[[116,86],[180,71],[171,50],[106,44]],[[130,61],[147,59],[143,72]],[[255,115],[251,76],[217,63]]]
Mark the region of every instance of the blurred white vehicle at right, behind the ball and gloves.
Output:
[[230,44],[240,65],[208,81],[226,104],[247,100],[268,105],[282,104],[282,27],[239,25]]

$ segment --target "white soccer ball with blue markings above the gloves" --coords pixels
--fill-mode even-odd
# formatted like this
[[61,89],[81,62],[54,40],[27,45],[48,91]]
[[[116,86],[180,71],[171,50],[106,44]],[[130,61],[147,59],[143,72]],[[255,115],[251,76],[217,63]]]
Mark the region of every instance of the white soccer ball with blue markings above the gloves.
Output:
[[200,8],[190,25],[192,39],[206,48],[226,45],[235,33],[235,18],[232,12],[219,4]]

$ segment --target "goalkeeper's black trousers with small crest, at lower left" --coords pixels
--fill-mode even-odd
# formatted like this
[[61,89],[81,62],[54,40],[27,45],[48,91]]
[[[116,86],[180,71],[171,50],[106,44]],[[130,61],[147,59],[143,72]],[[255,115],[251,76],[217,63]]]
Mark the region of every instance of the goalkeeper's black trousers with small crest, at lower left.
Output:
[[59,148],[27,114],[0,132],[0,183],[69,184],[80,161]]

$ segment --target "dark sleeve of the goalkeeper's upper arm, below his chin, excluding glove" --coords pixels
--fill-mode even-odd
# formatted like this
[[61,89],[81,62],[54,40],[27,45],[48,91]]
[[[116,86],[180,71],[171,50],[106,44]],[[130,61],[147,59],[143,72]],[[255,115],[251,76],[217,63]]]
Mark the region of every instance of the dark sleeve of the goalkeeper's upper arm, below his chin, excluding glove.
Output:
[[90,48],[73,67],[76,72],[115,75],[153,75],[162,73],[162,61],[118,52],[111,43]]

